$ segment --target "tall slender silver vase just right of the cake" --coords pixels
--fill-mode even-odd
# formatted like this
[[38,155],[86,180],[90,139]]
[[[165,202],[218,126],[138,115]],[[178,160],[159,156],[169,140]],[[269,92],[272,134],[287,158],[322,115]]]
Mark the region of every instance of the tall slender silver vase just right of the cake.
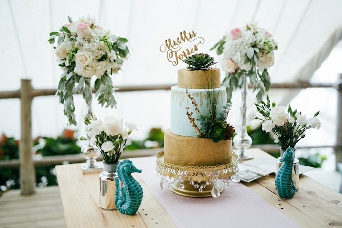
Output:
[[246,160],[250,159],[248,155],[245,154],[246,149],[251,147],[252,145],[252,138],[247,134],[247,121],[246,121],[246,115],[247,115],[247,104],[246,104],[246,97],[247,97],[247,76],[246,74],[242,75],[243,77],[243,83],[241,88],[241,125],[239,126],[239,131],[233,138],[233,145],[236,149],[238,149],[238,157],[239,160]]

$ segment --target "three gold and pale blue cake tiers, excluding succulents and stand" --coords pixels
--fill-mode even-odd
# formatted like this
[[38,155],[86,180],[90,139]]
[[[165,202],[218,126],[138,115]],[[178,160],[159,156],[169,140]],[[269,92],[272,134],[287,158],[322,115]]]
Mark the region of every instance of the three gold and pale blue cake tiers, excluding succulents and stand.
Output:
[[[211,112],[209,92],[214,92],[216,109],[224,111],[227,95],[226,88],[220,83],[219,69],[178,70],[178,83],[171,88],[171,128],[164,134],[165,162],[184,166],[215,166],[231,162],[232,140],[213,142],[208,137],[201,137],[202,126],[198,119],[199,114],[208,116]],[[193,122],[187,113],[192,113]]]

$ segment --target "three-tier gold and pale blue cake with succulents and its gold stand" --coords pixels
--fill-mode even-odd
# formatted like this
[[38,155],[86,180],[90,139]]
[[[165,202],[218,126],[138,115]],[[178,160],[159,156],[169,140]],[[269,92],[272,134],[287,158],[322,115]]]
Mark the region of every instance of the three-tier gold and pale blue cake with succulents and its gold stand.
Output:
[[[227,123],[230,104],[221,86],[214,59],[195,54],[178,70],[171,87],[171,126],[164,133],[164,151],[157,154],[157,172],[177,194],[217,198],[237,175],[237,155],[232,152],[234,128]],[[167,180],[169,179],[169,181]]]

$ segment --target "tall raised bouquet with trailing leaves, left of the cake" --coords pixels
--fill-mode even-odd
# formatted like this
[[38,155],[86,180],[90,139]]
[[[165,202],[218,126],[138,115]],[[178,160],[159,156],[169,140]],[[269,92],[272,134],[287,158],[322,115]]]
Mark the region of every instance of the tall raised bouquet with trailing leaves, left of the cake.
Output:
[[126,38],[111,35],[96,24],[94,18],[81,17],[51,32],[49,42],[55,43],[58,65],[63,69],[57,94],[64,104],[68,124],[76,125],[73,95],[81,93],[88,104],[92,98],[90,78],[96,76],[95,91],[99,104],[115,107],[116,98],[110,75],[117,73],[128,57]]

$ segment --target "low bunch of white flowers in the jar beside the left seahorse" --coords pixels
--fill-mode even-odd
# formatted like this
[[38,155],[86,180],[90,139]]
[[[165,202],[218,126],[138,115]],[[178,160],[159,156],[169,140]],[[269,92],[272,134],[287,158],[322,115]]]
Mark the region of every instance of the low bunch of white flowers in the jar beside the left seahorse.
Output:
[[104,120],[85,117],[85,132],[87,138],[81,136],[79,140],[90,139],[90,144],[96,145],[101,151],[107,164],[117,163],[128,136],[137,130],[135,123],[123,123],[123,119],[107,116]]

